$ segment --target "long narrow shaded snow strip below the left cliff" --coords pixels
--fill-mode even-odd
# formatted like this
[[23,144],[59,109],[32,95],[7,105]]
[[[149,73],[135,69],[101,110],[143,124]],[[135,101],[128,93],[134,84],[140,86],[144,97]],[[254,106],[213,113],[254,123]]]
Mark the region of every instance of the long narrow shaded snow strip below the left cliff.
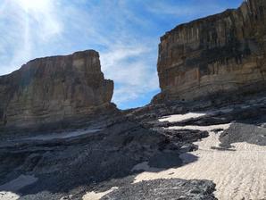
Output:
[[51,140],[51,139],[58,139],[58,138],[70,138],[70,137],[78,137],[82,135],[86,135],[89,133],[95,133],[100,131],[101,129],[85,129],[85,130],[76,130],[72,132],[64,132],[64,133],[52,133],[52,134],[47,134],[47,135],[40,135],[36,137],[28,137],[25,139],[30,139],[30,140]]

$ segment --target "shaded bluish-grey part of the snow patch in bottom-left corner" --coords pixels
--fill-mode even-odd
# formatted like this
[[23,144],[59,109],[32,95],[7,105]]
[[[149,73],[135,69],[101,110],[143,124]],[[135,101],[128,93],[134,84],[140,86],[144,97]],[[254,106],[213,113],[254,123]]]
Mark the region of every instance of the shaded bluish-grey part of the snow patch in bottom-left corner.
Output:
[[22,187],[29,186],[37,181],[37,178],[29,175],[21,175],[17,179],[0,186],[0,191],[18,191]]

